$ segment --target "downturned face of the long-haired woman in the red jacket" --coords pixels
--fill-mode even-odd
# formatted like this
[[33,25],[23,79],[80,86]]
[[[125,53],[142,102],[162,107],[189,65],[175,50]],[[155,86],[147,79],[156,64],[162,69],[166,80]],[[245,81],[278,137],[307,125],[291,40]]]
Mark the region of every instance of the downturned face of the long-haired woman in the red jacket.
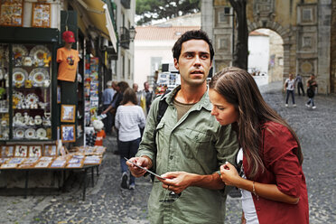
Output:
[[233,104],[228,103],[228,101],[214,89],[209,90],[209,97],[212,104],[211,115],[216,117],[221,126],[227,126],[238,121],[238,111]]

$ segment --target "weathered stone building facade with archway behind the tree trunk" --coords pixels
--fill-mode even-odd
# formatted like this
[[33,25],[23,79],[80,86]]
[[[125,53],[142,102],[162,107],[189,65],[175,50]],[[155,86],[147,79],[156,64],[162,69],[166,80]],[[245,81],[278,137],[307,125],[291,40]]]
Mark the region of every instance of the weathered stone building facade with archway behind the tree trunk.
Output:
[[[331,54],[331,47],[336,49],[335,29],[331,33],[335,7],[331,0],[247,1],[248,32],[266,28],[278,33],[284,42],[283,79],[291,72],[301,74],[304,81],[314,74],[319,93],[329,93],[335,91],[336,60]],[[229,0],[202,0],[201,10],[202,29],[214,40],[217,71],[231,64],[232,43],[237,42],[233,8]]]

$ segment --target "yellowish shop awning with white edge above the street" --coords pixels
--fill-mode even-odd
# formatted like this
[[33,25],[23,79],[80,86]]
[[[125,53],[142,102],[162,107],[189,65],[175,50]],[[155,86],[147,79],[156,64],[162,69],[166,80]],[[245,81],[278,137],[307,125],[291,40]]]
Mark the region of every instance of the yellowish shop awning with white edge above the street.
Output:
[[[94,29],[98,29],[101,35],[112,42],[113,48],[117,51],[117,35],[107,4],[102,0],[77,0],[77,2],[85,9],[89,17],[89,21],[86,16],[81,17],[82,21],[79,21],[79,28],[85,29],[91,25]],[[86,33],[86,31],[84,31],[84,33]]]

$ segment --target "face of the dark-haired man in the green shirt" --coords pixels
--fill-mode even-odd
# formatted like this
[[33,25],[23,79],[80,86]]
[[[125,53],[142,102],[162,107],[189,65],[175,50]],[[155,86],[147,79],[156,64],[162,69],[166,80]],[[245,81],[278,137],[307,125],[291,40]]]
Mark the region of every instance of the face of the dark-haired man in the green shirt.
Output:
[[182,84],[202,85],[212,65],[209,44],[203,40],[183,42],[179,61],[174,59],[174,65],[180,71]]

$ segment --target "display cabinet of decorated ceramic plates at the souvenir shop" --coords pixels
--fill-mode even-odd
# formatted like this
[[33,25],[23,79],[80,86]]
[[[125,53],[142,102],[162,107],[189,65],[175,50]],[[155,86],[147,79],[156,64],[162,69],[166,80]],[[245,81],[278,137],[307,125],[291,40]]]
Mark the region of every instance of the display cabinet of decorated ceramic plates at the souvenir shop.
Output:
[[[17,28],[16,32],[23,29]],[[28,38],[36,40],[32,33]],[[57,42],[1,41],[0,141],[55,140],[51,115],[57,115],[53,111],[57,103],[52,100],[56,80],[51,74],[56,67]]]

